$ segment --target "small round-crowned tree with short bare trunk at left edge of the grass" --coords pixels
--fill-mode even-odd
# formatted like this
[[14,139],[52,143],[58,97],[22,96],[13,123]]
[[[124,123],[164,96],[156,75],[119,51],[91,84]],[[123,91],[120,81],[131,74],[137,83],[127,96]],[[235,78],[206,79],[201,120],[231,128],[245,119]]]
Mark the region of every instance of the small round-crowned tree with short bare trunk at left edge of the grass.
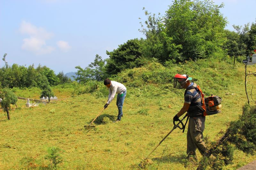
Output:
[[10,91],[7,88],[4,88],[0,91],[0,98],[2,101],[0,102],[1,107],[4,109],[4,111],[7,113],[7,118],[10,120],[10,113],[9,110],[11,108],[11,104],[14,105],[18,98],[15,96],[15,94]]

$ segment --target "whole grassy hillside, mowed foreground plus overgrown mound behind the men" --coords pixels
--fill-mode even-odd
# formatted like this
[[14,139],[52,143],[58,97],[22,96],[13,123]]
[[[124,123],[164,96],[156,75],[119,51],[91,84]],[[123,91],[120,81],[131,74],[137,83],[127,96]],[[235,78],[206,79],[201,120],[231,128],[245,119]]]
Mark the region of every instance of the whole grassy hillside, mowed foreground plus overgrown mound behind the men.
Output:
[[[247,69],[255,72],[256,65]],[[84,129],[106,103],[108,91],[102,82],[96,83],[96,88],[92,82],[87,86],[75,83],[56,86],[54,94],[63,100],[15,109],[11,111],[10,121],[0,111],[0,169],[46,168],[50,161],[45,155],[52,146],[61,149],[64,160],[58,169],[138,169],[141,159],[172,129],[172,117],[183,105],[184,90],[173,88],[176,73],[193,77],[206,96],[222,97],[222,113],[208,116],[205,122],[204,135],[210,141],[216,140],[219,132],[242,114],[247,102],[244,65],[236,63],[233,68],[232,60],[220,59],[170,63],[166,67],[153,62],[124,70],[112,78],[127,87],[121,122],[112,122],[118,112],[115,98],[96,120],[96,129]],[[249,94],[255,84],[256,78],[251,75],[247,82]],[[16,89],[15,92],[22,97],[36,98],[40,90]],[[254,87],[252,97],[255,94]],[[24,101],[19,100],[18,104],[23,107]],[[187,128],[184,133],[175,129],[152,153],[153,164],[147,169],[156,169],[158,165],[158,169],[196,169],[193,164],[184,167],[186,133]],[[200,159],[199,152],[197,155]],[[21,159],[29,161],[24,163]],[[236,151],[233,164],[224,169],[236,169],[253,159],[256,157]]]

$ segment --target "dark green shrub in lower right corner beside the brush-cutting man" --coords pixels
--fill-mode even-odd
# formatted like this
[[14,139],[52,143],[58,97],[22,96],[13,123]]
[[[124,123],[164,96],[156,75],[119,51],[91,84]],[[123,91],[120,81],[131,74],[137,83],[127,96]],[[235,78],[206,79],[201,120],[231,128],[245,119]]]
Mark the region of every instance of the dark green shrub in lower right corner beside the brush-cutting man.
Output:
[[[232,163],[235,147],[247,154],[256,153],[256,107],[243,107],[243,115],[230,123],[226,133],[216,143],[212,142],[198,166],[198,170],[207,168],[222,169]],[[233,145],[235,147],[233,147]],[[210,155],[211,154],[211,155]]]

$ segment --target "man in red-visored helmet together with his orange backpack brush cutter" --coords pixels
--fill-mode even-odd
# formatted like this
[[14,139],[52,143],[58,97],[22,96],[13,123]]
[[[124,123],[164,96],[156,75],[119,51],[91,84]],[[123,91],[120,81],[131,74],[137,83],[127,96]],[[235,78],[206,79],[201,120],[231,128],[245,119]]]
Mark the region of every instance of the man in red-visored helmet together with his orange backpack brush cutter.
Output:
[[[147,157],[140,162],[139,166],[144,167],[145,163],[147,164],[148,157],[152,152],[168,137],[172,131],[176,128],[183,129],[182,133],[185,130],[185,126],[188,122],[188,133],[187,133],[187,157],[193,156],[196,159],[196,149],[205,156],[206,147],[203,141],[203,131],[204,131],[204,122],[206,115],[215,115],[220,113],[221,106],[221,97],[217,95],[211,95],[210,97],[204,98],[204,93],[201,88],[196,85],[196,83],[190,82],[192,80],[188,75],[176,74],[173,78],[173,87],[177,89],[186,89],[184,94],[184,104],[180,109],[178,114],[173,117],[173,128],[172,130],[156,145],[156,147],[148,154]],[[183,116],[180,120],[179,117],[184,113],[187,114]],[[182,121],[187,117],[185,125]],[[179,121],[177,124],[175,122]],[[179,124],[182,126],[180,127]],[[212,155],[210,155],[211,158]]]

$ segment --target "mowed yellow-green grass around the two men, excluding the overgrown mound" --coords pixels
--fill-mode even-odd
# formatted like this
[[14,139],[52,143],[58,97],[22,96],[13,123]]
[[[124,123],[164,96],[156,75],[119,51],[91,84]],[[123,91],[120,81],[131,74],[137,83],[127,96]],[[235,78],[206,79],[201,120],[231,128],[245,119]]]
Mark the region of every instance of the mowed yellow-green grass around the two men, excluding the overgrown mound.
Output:
[[[250,66],[249,70],[252,72],[255,68]],[[217,140],[220,130],[225,131],[230,121],[238,119],[247,101],[244,70],[243,67],[237,69],[237,77],[231,80],[228,89],[218,92],[223,98],[222,113],[206,117],[204,136],[208,136],[210,141]],[[252,75],[248,80],[249,94],[255,84],[256,78]],[[201,88],[204,89],[203,86]],[[70,90],[67,90],[65,96],[65,90],[62,89],[60,92],[68,99],[57,101],[56,104],[12,110],[10,121],[7,120],[6,113],[1,111],[0,169],[27,168],[27,165],[20,162],[24,157],[35,159],[34,168],[46,166],[50,162],[44,157],[47,148],[51,146],[63,150],[60,154],[64,162],[58,169],[138,169],[142,158],[172,129],[172,117],[183,105],[184,90],[173,90],[170,86],[168,92],[162,92],[158,85],[151,85],[150,90],[152,95],[143,96],[127,88],[122,121],[100,123],[104,116],[116,119],[118,110],[115,98],[102,112],[98,123],[94,124],[94,130],[86,130],[84,125],[102,110],[107,96],[82,94],[70,97]],[[254,88],[252,97],[255,94]],[[36,95],[38,94],[35,97]],[[251,103],[253,104],[252,100]],[[186,133],[187,127],[184,133],[175,129],[150,155],[153,164],[146,169],[196,169],[197,166],[193,164],[184,167]],[[200,158],[199,152],[197,155]],[[224,169],[236,169],[254,159],[255,156],[236,151],[233,164]]]

